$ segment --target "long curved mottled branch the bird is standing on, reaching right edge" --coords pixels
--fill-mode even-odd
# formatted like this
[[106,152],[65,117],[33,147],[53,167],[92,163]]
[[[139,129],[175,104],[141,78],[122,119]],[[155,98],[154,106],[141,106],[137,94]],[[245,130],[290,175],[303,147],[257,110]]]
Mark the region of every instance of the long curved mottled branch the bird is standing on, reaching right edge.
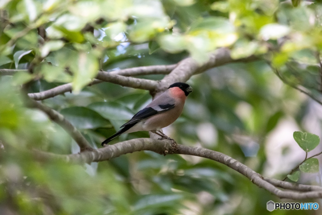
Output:
[[[119,142],[114,145],[108,145],[105,148],[100,148],[93,151],[84,151],[79,154],[71,155],[56,155],[47,152],[35,152],[36,158],[44,159],[60,159],[71,163],[83,162],[98,162],[106,161],[122,154],[132,153],[134,151],[149,150],[159,154],[185,154],[194,155],[198,157],[208,158],[213,161],[220,162],[235,171],[240,172],[246,176],[250,181],[260,188],[270,191],[272,194],[279,198],[287,199],[307,199],[307,198],[322,198],[322,188],[309,185],[295,185],[285,181],[279,181],[270,178],[264,178],[259,173],[251,170],[246,165],[229,157],[218,151],[212,151],[200,147],[177,145],[172,148],[171,141],[169,140],[156,140],[150,138],[139,138],[129,141]],[[286,191],[280,190],[277,187],[287,189]]]

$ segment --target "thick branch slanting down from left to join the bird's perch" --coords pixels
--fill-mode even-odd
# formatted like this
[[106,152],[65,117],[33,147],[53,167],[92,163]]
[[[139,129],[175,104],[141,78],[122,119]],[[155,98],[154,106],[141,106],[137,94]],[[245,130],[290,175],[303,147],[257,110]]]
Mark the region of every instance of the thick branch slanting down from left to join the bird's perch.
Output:
[[46,105],[43,105],[40,102],[36,102],[34,100],[31,100],[31,99],[29,99],[28,103],[30,103],[30,106],[32,106],[34,108],[38,108],[42,112],[46,113],[47,116],[53,122],[56,122],[66,132],[68,132],[71,135],[71,137],[75,140],[75,142],[79,145],[79,147],[81,148],[81,151],[92,150],[92,148],[90,147],[90,144],[83,137],[81,132],[79,132],[69,121],[67,121],[62,114],[60,114],[59,112],[51,109],[50,107],[47,107]]

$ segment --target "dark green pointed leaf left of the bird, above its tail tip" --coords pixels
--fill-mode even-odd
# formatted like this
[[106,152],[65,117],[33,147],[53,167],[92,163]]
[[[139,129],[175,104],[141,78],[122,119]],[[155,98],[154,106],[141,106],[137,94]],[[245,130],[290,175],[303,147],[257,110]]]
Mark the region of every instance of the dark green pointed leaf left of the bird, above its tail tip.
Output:
[[97,112],[86,107],[70,107],[61,110],[61,114],[78,129],[95,129],[110,125]]

